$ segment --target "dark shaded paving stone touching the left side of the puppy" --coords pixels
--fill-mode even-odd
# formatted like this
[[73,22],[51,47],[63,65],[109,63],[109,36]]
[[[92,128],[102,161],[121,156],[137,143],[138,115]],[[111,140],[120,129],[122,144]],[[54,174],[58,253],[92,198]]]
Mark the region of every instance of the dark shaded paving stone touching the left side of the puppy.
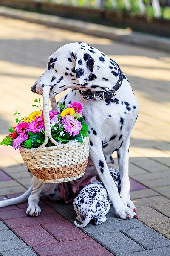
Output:
[[56,204],[50,204],[50,206],[68,220],[77,217],[73,204],[62,204],[57,202]]

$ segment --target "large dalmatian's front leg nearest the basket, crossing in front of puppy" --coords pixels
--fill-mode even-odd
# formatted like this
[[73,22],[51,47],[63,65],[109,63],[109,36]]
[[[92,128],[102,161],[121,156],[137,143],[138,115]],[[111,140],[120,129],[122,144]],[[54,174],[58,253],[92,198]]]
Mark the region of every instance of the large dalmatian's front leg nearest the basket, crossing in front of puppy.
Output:
[[113,181],[113,178],[111,177],[107,163],[105,161],[102,148],[99,148],[99,143],[101,144],[101,142],[97,142],[96,140],[95,143],[93,143],[93,146],[90,148],[90,157],[94,163],[94,166],[96,167],[102,183],[108,192],[108,196],[113,204],[116,216],[122,219],[133,218],[134,215],[136,216],[136,213],[133,212],[132,209],[128,208],[120,198],[118,189]]

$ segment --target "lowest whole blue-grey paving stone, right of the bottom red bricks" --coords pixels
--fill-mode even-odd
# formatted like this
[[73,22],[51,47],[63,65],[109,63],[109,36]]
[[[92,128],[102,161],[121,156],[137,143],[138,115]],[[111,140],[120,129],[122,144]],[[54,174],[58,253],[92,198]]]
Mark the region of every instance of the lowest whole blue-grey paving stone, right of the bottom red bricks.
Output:
[[116,256],[144,250],[139,244],[136,244],[135,241],[132,241],[121,232],[95,235],[93,238]]

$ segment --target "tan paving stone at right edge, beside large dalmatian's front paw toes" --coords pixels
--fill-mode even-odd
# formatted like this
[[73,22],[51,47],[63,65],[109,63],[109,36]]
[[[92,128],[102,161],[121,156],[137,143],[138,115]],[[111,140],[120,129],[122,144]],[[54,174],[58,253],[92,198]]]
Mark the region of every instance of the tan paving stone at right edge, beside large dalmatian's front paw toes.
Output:
[[164,203],[169,203],[170,200],[161,196],[161,195],[156,195],[148,198],[139,198],[139,199],[134,199],[133,203],[137,208],[139,207],[144,207],[144,206],[150,206],[150,205],[155,205],[155,204],[164,204]]

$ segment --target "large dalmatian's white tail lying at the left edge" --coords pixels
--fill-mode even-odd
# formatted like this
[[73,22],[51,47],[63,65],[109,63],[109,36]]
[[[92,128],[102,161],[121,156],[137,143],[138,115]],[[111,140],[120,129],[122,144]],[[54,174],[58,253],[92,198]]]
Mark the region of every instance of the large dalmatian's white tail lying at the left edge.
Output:
[[17,196],[16,198],[10,198],[6,200],[0,201],[0,208],[13,205],[13,204],[20,204],[26,202],[28,200],[29,195],[31,195],[33,186],[31,186],[23,195]]

